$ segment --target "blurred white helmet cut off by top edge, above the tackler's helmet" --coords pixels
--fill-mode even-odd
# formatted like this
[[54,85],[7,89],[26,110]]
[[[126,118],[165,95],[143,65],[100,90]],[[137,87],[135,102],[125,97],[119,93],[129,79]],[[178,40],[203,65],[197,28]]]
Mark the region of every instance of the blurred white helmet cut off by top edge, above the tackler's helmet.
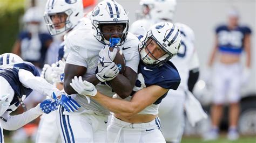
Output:
[[147,13],[154,20],[173,21],[174,12],[176,10],[176,0],[141,0],[140,5],[149,8]]

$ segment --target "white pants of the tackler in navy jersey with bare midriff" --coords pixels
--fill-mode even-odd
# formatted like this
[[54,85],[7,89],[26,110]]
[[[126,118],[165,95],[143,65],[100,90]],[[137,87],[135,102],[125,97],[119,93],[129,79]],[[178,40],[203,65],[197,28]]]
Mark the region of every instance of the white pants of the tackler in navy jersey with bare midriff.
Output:
[[148,123],[131,124],[112,116],[107,127],[107,142],[147,143],[165,142],[165,139],[158,117]]

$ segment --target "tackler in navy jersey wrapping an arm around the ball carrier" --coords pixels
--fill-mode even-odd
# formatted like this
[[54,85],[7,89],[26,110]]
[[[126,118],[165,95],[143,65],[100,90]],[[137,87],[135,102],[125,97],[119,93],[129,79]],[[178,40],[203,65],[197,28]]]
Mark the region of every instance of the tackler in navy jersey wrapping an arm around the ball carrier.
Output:
[[108,142],[165,142],[158,108],[169,89],[176,90],[180,76],[169,60],[178,53],[181,34],[172,23],[153,25],[140,40],[140,63],[132,94],[123,99],[97,92],[92,83],[75,77],[71,86],[114,113],[107,127]]

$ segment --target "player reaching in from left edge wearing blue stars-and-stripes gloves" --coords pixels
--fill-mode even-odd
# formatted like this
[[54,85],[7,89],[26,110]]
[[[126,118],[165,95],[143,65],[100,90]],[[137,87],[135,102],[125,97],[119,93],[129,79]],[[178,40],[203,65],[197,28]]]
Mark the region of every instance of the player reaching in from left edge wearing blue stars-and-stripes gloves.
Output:
[[[12,53],[0,55],[0,123],[5,130],[17,130],[43,113],[57,110],[58,104],[69,112],[76,111],[80,107],[71,97],[63,94],[46,82],[44,78],[38,76],[39,73],[35,66],[30,62],[23,61],[18,55]],[[21,115],[10,116],[10,113],[15,111],[19,105],[22,105],[26,111],[23,100],[33,90],[55,100],[46,99]]]

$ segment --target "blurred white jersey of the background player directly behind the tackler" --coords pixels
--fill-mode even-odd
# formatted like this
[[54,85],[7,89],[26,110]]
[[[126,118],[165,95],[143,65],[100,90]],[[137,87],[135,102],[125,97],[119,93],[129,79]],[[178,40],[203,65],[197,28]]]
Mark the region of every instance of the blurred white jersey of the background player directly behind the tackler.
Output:
[[[149,30],[149,28],[161,21],[154,21],[151,19],[140,19],[134,22],[130,28],[133,34],[144,35],[143,28]],[[165,21],[162,21],[165,22]],[[181,31],[181,46],[179,52],[170,61],[176,66],[179,71],[181,82],[178,89],[187,90],[187,80],[189,76],[189,70],[199,67],[199,61],[197,57],[196,48],[194,47],[194,32],[185,24],[175,23],[174,25],[179,27]]]

